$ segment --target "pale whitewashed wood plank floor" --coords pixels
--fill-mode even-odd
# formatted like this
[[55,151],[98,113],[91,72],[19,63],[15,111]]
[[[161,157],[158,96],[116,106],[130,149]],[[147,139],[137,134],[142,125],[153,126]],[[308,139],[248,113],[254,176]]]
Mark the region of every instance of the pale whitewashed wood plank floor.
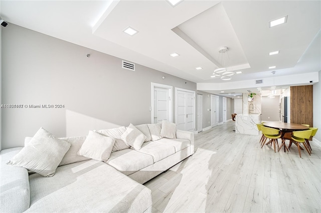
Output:
[[320,146],[274,153],[233,129],[196,134],[194,155],[145,183],[153,212],[321,212]]

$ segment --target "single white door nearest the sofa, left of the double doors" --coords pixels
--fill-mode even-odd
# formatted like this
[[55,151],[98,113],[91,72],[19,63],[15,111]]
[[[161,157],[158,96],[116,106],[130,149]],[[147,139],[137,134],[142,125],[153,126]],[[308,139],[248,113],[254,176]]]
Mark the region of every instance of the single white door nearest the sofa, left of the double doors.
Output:
[[151,123],[159,123],[162,120],[173,122],[172,86],[151,84]]

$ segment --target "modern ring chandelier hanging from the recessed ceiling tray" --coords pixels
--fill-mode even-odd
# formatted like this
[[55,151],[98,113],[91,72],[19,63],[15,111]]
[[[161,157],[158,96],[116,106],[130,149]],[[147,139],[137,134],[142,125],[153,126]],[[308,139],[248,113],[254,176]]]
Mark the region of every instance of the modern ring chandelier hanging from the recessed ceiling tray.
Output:
[[231,80],[231,76],[235,74],[233,71],[228,71],[226,68],[226,65],[230,62],[228,50],[229,49],[227,47],[219,48],[218,62],[221,61],[221,65],[224,65],[224,67],[214,70],[213,73],[213,76],[221,77],[221,79],[225,81]]

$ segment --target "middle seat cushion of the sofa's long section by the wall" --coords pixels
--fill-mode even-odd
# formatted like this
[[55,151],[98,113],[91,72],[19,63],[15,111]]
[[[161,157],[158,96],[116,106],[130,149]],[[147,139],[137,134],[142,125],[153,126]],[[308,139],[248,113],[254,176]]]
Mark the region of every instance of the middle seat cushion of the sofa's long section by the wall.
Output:
[[169,144],[155,143],[153,141],[149,141],[143,143],[141,149],[137,151],[151,155],[154,159],[154,162],[157,162],[174,154],[175,147]]

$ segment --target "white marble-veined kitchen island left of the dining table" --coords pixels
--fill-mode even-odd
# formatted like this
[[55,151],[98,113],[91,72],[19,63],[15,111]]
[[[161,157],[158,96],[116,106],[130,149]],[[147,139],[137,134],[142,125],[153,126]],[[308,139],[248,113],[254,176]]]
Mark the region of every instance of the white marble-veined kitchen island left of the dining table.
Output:
[[259,135],[257,123],[261,123],[260,113],[238,114],[235,117],[235,133]]

